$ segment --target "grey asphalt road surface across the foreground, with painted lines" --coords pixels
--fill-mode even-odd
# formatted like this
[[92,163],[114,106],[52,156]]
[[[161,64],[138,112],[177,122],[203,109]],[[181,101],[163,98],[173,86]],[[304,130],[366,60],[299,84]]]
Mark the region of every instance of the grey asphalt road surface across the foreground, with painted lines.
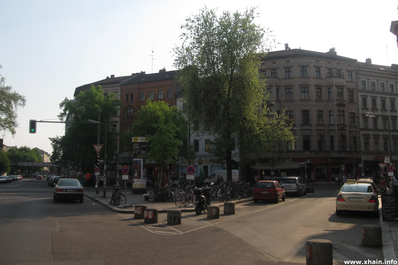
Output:
[[308,239],[333,242],[335,261],[383,260],[363,248],[369,214],[336,216],[336,187],[285,202],[237,204],[235,215],[184,213],[182,224],[144,224],[93,200],[54,203],[46,180],[0,185],[0,264],[305,264]]

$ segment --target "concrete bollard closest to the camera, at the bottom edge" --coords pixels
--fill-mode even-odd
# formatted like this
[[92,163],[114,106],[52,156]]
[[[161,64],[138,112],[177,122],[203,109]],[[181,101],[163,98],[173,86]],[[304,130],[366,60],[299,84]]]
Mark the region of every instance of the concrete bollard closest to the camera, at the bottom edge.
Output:
[[306,245],[306,265],[333,265],[333,244],[330,240],[310,239]]

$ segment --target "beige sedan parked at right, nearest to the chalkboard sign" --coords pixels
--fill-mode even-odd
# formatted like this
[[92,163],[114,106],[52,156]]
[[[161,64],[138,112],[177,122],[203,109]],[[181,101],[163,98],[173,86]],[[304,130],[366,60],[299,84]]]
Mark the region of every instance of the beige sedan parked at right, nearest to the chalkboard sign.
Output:
[[379,213],[379,198],[370,183],[346,183],[336,197],[336,215],[342,211]]

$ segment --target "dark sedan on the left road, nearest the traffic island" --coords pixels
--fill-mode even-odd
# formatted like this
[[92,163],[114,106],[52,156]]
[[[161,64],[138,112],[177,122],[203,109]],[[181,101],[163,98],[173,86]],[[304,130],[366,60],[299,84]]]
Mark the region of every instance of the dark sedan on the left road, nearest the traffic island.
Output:
[[76,178],[60,178],[54,187],[53,198],[55,202],[58,202],[60,199],[72,199],[83,202],[84,188]]

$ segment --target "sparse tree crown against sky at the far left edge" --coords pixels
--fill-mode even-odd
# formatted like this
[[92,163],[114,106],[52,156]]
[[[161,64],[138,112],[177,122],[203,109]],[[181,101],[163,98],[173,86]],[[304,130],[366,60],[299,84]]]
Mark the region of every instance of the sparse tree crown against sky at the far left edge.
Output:
[[26,99],[11,89],[5,86],[5,78],[0,75],[0,131],[9,131],[14,136],[18,127],[16,110],[25,106]]

